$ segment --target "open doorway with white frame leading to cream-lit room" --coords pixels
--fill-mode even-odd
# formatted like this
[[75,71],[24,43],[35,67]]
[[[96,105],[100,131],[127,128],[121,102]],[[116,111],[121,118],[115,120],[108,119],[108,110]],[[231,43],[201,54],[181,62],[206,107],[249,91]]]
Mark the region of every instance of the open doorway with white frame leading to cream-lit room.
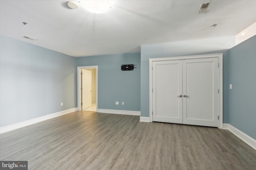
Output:
[[98,66],[79,66],[78,110],[98,111]]

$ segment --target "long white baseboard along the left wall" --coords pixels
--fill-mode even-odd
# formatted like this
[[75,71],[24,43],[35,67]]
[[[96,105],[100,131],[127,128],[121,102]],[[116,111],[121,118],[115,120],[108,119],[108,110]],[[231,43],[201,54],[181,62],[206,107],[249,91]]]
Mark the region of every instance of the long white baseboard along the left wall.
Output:
[[21,128],[21,127],[25,127],[25,126],[28,126],[28,125],[32,125],[32,124],[38,123],[40,121],[45,121],[47,119],[51,119],[51,118],[54,118],[54,117],[65,115],[65,114],[68,114],[68,113],[71,113],[71,112],[77,111],[77,110],[78,110],[78,108],[75,107],[75,108],[67,109],[67,110],[64,110],[64,111],[57,112],[57,113],[52,113],[52,114],[49,114],[49,115],[36,117],[34,119],[21,121],[21,122],[18,122],[18,123],[14,123],[12,125],[3,126],[3,127],[0,127],[0,134],[8,132],[8,131],[12,131],[14,129],[18,129],[18,128]]

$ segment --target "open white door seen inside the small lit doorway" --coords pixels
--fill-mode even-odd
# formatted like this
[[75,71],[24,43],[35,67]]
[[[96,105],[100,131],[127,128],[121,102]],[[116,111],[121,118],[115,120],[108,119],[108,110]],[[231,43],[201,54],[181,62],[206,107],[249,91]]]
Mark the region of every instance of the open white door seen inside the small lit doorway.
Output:
[[92,71],[82,69],[82,110],[92,106]]

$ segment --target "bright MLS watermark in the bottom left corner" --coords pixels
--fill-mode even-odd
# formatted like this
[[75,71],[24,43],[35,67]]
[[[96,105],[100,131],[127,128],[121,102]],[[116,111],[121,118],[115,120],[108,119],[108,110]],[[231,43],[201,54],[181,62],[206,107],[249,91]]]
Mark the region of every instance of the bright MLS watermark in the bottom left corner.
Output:
[[28,161],[1,161],[0,170],[28,170]]

